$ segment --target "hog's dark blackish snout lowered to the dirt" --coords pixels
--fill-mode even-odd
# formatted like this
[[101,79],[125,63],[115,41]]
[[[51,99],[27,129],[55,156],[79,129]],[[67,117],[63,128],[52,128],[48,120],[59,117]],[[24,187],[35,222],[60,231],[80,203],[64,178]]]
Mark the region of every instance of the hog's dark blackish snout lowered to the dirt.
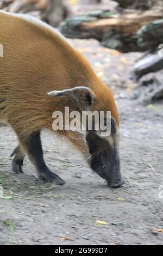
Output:
[[109,187],[120,187],[125,181],[122,178],[121,161],[116,145],[109,144],[96,133],[86,137],[91,154],[91,168],[108,182]]

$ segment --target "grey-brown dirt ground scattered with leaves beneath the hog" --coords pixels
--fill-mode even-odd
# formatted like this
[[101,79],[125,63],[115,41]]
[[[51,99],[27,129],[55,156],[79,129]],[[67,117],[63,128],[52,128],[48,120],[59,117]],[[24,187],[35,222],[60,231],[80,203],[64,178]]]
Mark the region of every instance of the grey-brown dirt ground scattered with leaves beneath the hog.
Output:
[[109,188],[76,149],[45,132],[46,162],[66,184],[39,184],[28,159],[25,173],[14,174],[9,155],[17,139],[2,126],[0,185],[8,197],[0,199],[0,244],[163,245],[162,102],[141,106],[131,97],[135,84],[129,74],[138,53],[121,54],[95,40],[71,42],[115,95],[126,184]]

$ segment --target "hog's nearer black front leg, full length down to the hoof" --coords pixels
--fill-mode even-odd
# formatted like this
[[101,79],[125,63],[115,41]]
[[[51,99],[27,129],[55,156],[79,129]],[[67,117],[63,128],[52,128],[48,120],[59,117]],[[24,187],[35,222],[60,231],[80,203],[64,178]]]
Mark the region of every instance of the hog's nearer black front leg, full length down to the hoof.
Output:
[[57,174],[51,172],[47,167],[45,161],[43,160],[43,151],[41,146],[40,132],[34,132],[28,138],[21,141],[23,148],[26,150],[30,161],[36,167],[36,170],[39,174],[39,178],[45,181],[55,182],[57,184],[65,184],[65,181],[62,180]]

